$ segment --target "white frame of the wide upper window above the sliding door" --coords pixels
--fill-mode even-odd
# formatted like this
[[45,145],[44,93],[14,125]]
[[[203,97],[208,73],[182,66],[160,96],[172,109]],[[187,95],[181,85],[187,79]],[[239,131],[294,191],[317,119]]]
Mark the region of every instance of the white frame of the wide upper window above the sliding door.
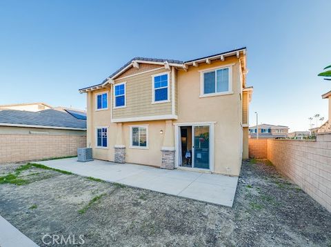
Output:
[[[231,63],[231,64],[227,64],[226,66],[217,66],[214,68],[208,68],[205,70],[199,70],[200,72],[200,98],[202,97],[213,97],[213,96],[219,96],[219,95],[232,95],[233,91],[232,91],[232,85],[233,85],[233,81],[232,81],[232,67],[234,66],[235,63]],[[229,85],[228,85],[228,91],[226,92],[216,92],[216,85],[217,85],[217,72],[216,70],[220,70],[220,69],[225,69],[228,68],[229,69]],[[208,93],[205,94],[205,88],[204,88],[204,75],[205,73],[208,72],[215,72],[215,92],[212,93]]]

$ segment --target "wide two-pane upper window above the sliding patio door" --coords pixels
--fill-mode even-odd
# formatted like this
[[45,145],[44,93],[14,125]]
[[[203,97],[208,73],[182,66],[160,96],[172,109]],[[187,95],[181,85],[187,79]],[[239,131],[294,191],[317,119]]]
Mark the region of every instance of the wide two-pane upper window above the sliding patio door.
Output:
[[202,74],[202,95],[222,95],[232,90],[232,67],[208,70]]

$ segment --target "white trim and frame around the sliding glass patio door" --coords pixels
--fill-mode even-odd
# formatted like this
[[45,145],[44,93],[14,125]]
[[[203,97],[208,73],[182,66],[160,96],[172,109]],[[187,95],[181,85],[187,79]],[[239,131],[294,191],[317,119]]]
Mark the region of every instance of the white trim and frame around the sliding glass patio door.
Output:
[[[192,170],[209,170],[210,172],[214,172],[214,125],[216,124],[216,122],[212,121],[212,122],[193,122],[193,123],[176,123],[174,124],[174,145],[175,145],[175,150],[176,152],[174,153],[174,164],[176,168],[181,168],[181,166],[179,166],[179,128],[181,126],[210,126],[209,127],[209,141],[210,141],[210,152],[209,152],[209,169],[201,169],[201,168],[189,168]],[[194,128],[192,128],[192,133]],[[192,139],[193,141],[193,139]],[[192,156],[194,154],[192,153]],[[193,157],[192,157],[193,160]]]

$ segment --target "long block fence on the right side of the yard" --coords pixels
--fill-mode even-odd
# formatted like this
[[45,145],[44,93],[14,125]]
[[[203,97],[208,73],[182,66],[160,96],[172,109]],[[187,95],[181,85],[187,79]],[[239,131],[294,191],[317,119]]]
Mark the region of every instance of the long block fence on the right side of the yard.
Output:
[[331,133],[317,135],[316,141],[249,139],[248,143],[250,157],[269,159],[331,212]]

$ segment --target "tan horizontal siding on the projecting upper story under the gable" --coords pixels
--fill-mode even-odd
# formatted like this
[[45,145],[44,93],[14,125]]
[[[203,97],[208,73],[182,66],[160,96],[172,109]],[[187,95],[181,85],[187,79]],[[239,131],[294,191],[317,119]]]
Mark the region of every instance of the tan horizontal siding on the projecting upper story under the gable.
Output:
[[[142,65],[142,64],[141,64]],[[141,72],[140,70],[137,73]],[[170,102],[152,103],[152,75],[169,72],[169,98]],[[121,76],[122,77],[122,76]],[[117,83],[126,82],[126,108],[112,109],[113,119],[128,117],[147,117],[172,114],[172,78],[169,70],[160,69],[140,75],[115,79]],[[113,96],[113,95],[112,95]]]

